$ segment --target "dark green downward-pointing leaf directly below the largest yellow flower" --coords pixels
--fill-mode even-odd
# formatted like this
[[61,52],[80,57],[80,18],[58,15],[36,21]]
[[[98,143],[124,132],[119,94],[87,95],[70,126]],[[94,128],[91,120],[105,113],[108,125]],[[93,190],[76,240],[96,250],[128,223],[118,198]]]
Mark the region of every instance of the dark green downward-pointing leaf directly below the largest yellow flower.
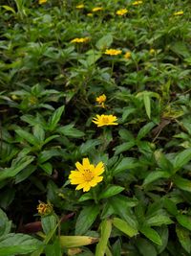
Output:
[[75,234],[83,235],[85,234],[91,225],[96,220],[96,216],[99,213],[99,208],[97,205],[86,206],[82,209],[79,216],[77,217],[75,224]]

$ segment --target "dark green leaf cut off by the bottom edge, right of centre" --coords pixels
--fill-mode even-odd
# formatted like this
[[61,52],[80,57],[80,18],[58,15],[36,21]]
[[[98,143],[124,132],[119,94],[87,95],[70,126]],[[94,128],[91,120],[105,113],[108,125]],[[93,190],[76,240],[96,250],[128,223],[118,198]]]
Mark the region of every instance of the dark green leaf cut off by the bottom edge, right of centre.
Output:
[[157,250],[155,246],[146,239],[138,238],[136,241],[136,246],[138,247],[138,251],[143,256],[157,256]]

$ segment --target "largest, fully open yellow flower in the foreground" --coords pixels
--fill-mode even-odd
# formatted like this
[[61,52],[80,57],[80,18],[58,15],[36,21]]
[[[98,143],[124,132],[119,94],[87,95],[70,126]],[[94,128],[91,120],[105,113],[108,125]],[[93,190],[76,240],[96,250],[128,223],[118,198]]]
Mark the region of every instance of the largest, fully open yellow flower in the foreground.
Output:
[[103,179],[103,176],[99,176],[105,171],[103,162],[95,166],[90,164],[88,158],[83,158],[82,164],[76,162],[75,167],[76,170],[69,175],[71,184],[77,185],[75,190],[83,189],[83,192],[87,192]]

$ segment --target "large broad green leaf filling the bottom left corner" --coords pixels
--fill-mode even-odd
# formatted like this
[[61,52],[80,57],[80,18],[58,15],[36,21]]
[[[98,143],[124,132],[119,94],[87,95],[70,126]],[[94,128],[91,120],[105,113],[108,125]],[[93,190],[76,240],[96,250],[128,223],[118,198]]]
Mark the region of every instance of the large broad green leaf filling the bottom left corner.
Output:
[[0,239],[0,255],[11,256],[28,254],[39,248],[42,243],[29,235],[10,233]]

